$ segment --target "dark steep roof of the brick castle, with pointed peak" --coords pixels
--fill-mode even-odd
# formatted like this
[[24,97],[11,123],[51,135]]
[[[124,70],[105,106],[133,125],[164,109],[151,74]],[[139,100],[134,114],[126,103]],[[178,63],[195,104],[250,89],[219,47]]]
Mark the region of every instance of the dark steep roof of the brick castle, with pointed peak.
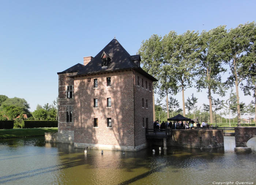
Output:
[[[111,59],[108,63],[108,66],[102,66],[103,56]],[[134,61],[140,61],[140,55],[131,56],[117,41],[117,39],[113,39],[87,65],[76,64],[73,67],[68,68],[65,71],[59,72],[57,74],[78,71],[78,73],[73,76],[83,76],[102,72],[114,72],[126,69],[134,69],[135,71],[138,71],[139,73],[146,76],[148,79],[151,79],[154,82],[158,81],[153,76],[145,72],[140,66],[138,66],[138,64],[136,65]]]

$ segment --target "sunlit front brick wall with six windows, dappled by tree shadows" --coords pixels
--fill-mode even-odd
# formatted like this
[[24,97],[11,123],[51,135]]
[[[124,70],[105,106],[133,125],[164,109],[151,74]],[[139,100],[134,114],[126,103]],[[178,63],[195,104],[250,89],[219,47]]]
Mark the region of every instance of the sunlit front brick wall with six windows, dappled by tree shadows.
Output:
[[[106,86],[106,78],[111,86]],[[90,78],[90,82],[88,82]],[[94,79],[98,87],[94,88]],[[74,142],[134,146],[133,73],[129,71],[75,77]],[[94,108],[94,98],[98,107]],[[111,107],[107,107],[111,98]],[[98,127],[94,127],[98,118]],[[107,118],[112,127],[107,127]]]

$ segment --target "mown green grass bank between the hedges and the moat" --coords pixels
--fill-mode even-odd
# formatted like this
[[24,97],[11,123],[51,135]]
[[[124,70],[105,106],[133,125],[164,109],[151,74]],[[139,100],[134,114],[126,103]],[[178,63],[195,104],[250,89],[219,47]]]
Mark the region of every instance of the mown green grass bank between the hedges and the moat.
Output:
[[58,128],[26,128],[0,130],[0,138],[44,135],[45,132],[58,132]]

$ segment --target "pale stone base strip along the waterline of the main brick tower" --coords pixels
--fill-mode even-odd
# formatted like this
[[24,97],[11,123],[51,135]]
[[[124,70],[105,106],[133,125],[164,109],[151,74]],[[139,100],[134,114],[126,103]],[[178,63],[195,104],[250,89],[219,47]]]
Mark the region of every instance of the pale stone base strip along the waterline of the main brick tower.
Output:
[[123,151],[139,151],[143,148],[147,148],[147,144],[141,144],[137,147],[130,146],[118,146],[118,145],[108,145],[108,144],[90,144],[90,143],[74,143],[75,148],[93,148],[93,149],[104,149],[104,150],[123,150]]

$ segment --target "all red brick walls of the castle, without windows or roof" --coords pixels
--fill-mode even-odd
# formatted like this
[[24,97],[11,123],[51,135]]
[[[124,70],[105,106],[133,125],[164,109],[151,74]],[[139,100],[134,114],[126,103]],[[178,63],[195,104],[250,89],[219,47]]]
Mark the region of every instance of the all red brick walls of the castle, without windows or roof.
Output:
[[[149,127],[153,125],[151,80],[132,70],[69,78],[71,75],[59,75],[59,131],[74,131],[74,143],[146,146],[146,121]],[[109,77],[111,86],[107,86]],[[68,85],[74,87],[74,98],[67,98]],[[94,107],[96,98],[98,107]],[[107,107],[107,98],[111,98],[111,107]],[[72,122],[66,122],[67,106],[74,108]],[[94,127],[94,118],[98,118],[98,127]],[[107,127],[107,118],[111,118],[112,127]]]

